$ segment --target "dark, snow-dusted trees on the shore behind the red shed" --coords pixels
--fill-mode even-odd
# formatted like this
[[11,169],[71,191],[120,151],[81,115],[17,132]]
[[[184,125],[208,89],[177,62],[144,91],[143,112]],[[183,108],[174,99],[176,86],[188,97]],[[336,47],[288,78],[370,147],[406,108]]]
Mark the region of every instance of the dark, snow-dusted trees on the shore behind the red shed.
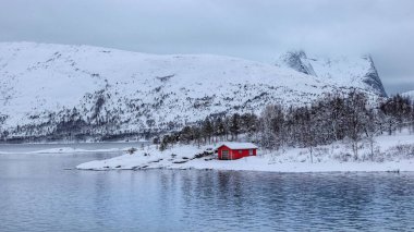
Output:
[[318,145],[348,141],[354,159],[361,143],[367,142],[374,152],[375,136],[393,134],[403,127],[414,131],[414,106],[400,95],[375,102],[357,89],[349,94],[328,94],[302,107],[280,103],[267,106],[259,115],[234,113],[211,115],[181,131],[157,137],[160,149],[176,143],[211,144],[221,141],[254,142],[266,149],[306,147],[310,155]]

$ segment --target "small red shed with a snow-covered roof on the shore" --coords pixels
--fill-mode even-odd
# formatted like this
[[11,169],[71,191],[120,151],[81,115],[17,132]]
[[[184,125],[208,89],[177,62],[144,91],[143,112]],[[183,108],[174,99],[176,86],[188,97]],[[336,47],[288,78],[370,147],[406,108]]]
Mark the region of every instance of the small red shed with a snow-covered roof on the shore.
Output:
[[252,143],[222,143],[217,148],[218,158],[223,160],[240,159],[247,156],[256,156],[257,146]]

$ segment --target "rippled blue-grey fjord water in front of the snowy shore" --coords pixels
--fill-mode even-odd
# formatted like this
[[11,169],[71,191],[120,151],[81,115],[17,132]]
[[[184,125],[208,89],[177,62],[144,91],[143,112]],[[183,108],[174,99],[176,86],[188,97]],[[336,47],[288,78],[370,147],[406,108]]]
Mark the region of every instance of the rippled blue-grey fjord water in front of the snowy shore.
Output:
[[414,174],[78,171],[0,155],[0,231],[412,231]]

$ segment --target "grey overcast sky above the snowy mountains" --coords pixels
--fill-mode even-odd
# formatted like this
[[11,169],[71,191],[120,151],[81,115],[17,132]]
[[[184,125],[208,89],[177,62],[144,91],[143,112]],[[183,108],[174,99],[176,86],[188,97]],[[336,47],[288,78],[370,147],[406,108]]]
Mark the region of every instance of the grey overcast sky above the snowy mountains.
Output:
[[414,89],[413,0],[0,0],[0,40],[265,62],[372,53],[388,93]]

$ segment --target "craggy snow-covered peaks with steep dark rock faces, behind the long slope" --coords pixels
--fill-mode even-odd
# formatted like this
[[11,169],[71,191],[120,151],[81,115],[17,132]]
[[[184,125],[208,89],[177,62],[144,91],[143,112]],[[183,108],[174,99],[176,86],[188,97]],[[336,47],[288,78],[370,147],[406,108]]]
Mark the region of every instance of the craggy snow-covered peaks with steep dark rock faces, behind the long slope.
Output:
[[300,50],[281,56],[277,64],[321,80],[332,80],[339,85],[365,86],[380,96],[387,96],[370,56],[321,58],[309,57]]

